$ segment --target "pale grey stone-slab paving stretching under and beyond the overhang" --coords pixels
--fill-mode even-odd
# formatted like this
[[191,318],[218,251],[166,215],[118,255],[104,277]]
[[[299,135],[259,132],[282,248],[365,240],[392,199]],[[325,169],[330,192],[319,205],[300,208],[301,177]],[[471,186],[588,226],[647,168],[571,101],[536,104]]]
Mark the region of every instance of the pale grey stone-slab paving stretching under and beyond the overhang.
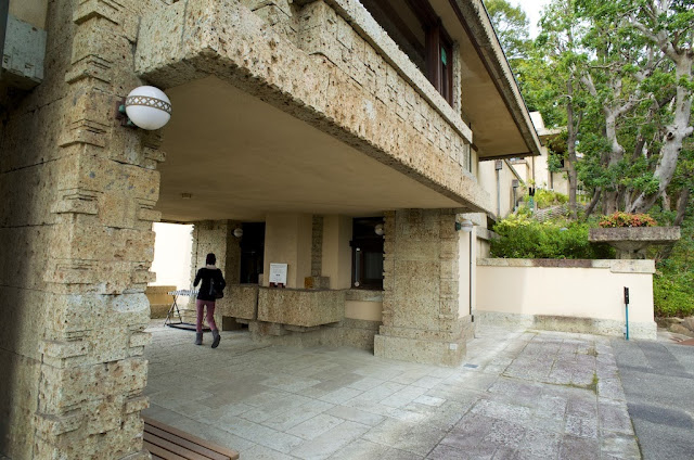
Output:
[[[188,331],[150,331],[144,414],[244,460],[641,458],[606,337],[486,327],[451,369],[260,345],[240,331],[213,350]],[[676,362],[629,353],[653,371]],[[667,375],[686,372],[677,362]]]

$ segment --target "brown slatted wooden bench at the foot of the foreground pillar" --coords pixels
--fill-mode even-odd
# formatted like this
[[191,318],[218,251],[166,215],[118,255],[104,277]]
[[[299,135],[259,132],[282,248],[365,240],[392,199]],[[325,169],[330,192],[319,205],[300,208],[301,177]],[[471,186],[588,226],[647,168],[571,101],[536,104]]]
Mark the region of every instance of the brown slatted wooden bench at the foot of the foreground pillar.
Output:
[[144,448],[153,459],[236,460],[239,452],[143,417]]

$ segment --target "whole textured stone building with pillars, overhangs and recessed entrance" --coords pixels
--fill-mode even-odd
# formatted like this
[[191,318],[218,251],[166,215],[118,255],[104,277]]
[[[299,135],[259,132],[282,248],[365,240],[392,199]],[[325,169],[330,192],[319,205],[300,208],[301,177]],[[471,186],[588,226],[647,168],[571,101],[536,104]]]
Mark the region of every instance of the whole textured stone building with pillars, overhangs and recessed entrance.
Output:
[[[244,301],[220,315],[259,340],[461,362],[457,219],[492,212],[479,162],[540,149],[481,1],[2,5],[2,453],[149,457],[158,220],[195,225],[194,265],[217,253]],[[115,117],[143,84],[162,130]]]

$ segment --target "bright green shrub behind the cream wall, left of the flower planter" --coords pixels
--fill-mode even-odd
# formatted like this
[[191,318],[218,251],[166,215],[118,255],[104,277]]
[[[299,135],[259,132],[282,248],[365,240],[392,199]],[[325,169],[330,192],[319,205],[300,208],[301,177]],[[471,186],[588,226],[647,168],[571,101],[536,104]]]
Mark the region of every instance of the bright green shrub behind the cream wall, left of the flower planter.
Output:
[[504,258],[612,258],[614,250],[588,242],[587,223],[538,222],[525,215],[511,215],[493,228],[499,239],[491,255]]

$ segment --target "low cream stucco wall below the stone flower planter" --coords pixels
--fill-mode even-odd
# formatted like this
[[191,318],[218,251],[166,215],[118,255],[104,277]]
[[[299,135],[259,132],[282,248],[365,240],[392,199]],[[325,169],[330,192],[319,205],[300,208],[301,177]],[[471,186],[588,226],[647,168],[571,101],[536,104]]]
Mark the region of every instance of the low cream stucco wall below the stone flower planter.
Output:
[[[483,319],[486,312],[498,314],[487,316],[496,321],[545,325],[562,322],[556,317],[590,319],[593,330],[584,332],[620,335],[627,286],[633,335],[655,337],[653,260],[480,259],[477,265],[476,311]],[[586,325],[577,321],[576,327]]]

